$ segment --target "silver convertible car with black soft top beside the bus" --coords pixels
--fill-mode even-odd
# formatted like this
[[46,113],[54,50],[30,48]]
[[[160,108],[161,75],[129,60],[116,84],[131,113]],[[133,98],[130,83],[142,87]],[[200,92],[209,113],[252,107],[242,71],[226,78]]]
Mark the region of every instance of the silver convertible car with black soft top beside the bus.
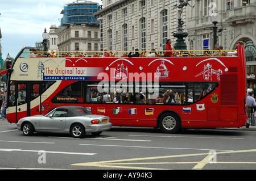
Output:
[[93,115],[81,106],[61,106],[47,115],[23,117],[16,124],[24,135],[34,132],[70,133],[81,138],[85,133],[101,134],[112,127],[108,116]]

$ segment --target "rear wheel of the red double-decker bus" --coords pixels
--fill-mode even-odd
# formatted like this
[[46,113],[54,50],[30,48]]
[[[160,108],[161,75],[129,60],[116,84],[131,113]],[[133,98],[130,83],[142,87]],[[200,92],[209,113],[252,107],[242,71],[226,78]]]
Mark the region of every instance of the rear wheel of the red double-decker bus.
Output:
[[180,120],[175,113],[163,113],[159,117],[159,128],[163,133],[176,133],[180,129]]

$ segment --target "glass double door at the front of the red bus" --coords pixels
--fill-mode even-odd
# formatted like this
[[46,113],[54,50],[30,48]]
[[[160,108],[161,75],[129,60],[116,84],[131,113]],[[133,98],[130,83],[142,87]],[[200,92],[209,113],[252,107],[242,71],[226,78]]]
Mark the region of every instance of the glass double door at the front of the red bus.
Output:
[[40,82],[16,83],[16,121],[22,117],[41,114],[41,85]]

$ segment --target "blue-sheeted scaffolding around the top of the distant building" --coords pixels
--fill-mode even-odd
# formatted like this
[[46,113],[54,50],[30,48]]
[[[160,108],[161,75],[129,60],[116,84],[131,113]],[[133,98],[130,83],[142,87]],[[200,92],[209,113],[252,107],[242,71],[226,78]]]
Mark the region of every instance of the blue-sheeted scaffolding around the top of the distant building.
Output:
[[99,26],[100,22],[97,18],[93,17],[93,14],[99,10],[98,3],[96,2],[76,2],[69,3],[64,6],[64,9],[60,14],[63,14],[61,18],[61,26],[74,24],[86,24],[86,26]]

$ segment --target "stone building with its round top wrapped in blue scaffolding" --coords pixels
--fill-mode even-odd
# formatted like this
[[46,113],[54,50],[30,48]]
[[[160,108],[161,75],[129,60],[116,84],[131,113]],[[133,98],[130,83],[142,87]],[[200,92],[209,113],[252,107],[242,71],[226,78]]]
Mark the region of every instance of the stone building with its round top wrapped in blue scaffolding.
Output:
[[99,50],[100,24],[93,17],[97,11],[98,3],[94,2],[77,1],[64,6],[56,40],[60,52]]

